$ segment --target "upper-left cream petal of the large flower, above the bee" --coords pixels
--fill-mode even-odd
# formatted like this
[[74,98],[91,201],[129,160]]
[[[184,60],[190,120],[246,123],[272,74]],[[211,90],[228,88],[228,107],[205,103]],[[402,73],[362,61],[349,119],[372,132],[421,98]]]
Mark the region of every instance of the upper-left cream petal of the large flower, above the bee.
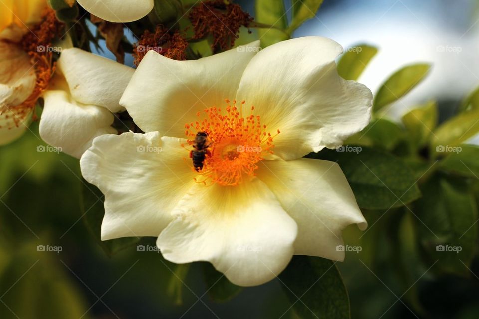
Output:
[[145,132],[184,137],[196,113],[233,99],[259,41],[199,60],[175,61],[154,51],[143,58],[121,105]]

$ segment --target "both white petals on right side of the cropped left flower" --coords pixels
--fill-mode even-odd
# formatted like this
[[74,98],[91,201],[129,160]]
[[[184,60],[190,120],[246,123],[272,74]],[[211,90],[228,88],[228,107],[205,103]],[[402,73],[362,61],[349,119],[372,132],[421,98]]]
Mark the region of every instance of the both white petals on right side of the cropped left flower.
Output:
[[119,101],[134,69],[76,48],[64,50],[57,66],[62,75],[43,94],[40,136],[80,158],[95,137],[117,133],[112,112],[124,110]]

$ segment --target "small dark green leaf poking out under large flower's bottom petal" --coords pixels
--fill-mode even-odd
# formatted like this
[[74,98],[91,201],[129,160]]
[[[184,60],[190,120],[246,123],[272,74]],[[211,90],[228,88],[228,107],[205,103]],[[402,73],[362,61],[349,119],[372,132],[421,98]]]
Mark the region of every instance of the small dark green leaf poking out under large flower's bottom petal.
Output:
[[224,274],[217,271],[210,263],[203,263],[203,275],[208,295],[215,302],[227,302],[243,290],[242,287],[232,284]]

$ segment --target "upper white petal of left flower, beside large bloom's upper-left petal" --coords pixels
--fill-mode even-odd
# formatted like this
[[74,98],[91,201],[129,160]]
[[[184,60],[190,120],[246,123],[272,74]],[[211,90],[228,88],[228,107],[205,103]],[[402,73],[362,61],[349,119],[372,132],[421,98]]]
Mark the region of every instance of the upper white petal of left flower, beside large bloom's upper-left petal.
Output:
[[58,67],[76,101],[113,113],[124,110],[120,98],[135,72],[133,68],[77,48],[64,50]]

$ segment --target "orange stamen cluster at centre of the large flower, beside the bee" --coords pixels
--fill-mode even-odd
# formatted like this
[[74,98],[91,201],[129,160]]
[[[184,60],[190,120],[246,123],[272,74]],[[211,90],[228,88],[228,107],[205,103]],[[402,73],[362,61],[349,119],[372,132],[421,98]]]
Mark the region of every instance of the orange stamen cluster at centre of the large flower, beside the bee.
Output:
[[[236,106],[236,101],[225,100],[227,107],[211,107],[206,110],[205,117],[195,123],[185,124],[188,143],[195,146],[198,132],[207,134],[207,142],[202,169],[193,169],[201,175],[195,178],[205,184],[234,186],[243,182],[246,177],[255,176],[257,163],[268,154],[272,154],[273,138],[266,132],[266,125],[261,123],[259,115],[254,115],[254,106],[247,116],[243,116],[242,107],[245,101]],[[201,118],[201,112],[197,113]],[[279,130],[277,131],[279,134]],[[195,149],[195,151],[198,151]]]

